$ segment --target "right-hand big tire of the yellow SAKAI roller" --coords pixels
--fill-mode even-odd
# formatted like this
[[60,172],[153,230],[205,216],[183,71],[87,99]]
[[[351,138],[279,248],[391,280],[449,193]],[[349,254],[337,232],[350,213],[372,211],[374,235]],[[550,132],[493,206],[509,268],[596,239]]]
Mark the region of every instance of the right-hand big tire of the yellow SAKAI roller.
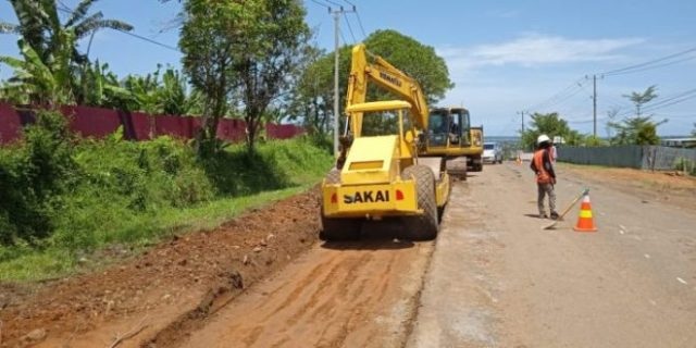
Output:
[[422,215],[403,216],[403,237],[410,240],[430,240],[437,237],[437,203],[435,201],[435,176],[430,167],[411,165],[401,173],[403,178],[415,178],[418,208]]

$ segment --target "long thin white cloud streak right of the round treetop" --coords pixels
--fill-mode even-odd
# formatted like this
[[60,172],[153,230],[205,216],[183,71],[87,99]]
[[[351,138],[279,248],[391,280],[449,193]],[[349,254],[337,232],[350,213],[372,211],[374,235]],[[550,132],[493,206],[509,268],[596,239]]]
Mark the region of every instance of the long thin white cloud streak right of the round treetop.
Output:
[[623,58],[618,51],[644,42],[642,38],[569,39],[527,34],[511,41],[472,48],[443,47],[437,53],[450,70],[484,65],[519,64],[535,66],[550,63],[599,62]]

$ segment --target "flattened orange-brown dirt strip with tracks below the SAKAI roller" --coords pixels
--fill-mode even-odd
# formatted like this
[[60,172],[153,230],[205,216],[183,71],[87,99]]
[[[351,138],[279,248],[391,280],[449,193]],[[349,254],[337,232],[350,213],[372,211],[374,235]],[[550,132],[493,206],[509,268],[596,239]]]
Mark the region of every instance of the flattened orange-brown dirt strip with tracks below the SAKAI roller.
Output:
[[315,246],[181,347],[400,347],[432,250],[374,239]]

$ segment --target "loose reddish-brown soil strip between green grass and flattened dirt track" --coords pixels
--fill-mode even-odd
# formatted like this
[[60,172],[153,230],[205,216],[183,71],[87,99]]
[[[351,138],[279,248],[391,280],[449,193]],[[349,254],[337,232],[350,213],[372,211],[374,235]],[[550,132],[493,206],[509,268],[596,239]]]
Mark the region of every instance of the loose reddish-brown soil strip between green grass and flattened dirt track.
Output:
[[[137,333],[159,346],[312,246],[316,191],[252,210],[209,232],[173,237],[99,272],[2,285],[0,346],[109,346]],[[135,336],[135,335],[134,335]]]

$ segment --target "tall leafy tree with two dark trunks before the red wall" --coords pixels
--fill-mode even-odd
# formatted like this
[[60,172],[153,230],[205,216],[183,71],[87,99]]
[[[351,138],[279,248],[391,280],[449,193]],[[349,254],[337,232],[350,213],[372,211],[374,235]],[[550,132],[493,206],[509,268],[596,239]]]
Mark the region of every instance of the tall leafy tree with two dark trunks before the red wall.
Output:
[[304,9],[298,0],[189,0],[184,8],[184,67],[204,96],[200,139],[213,139],[220,117],[238,104],[251,150],[266,108],[299,66]]

